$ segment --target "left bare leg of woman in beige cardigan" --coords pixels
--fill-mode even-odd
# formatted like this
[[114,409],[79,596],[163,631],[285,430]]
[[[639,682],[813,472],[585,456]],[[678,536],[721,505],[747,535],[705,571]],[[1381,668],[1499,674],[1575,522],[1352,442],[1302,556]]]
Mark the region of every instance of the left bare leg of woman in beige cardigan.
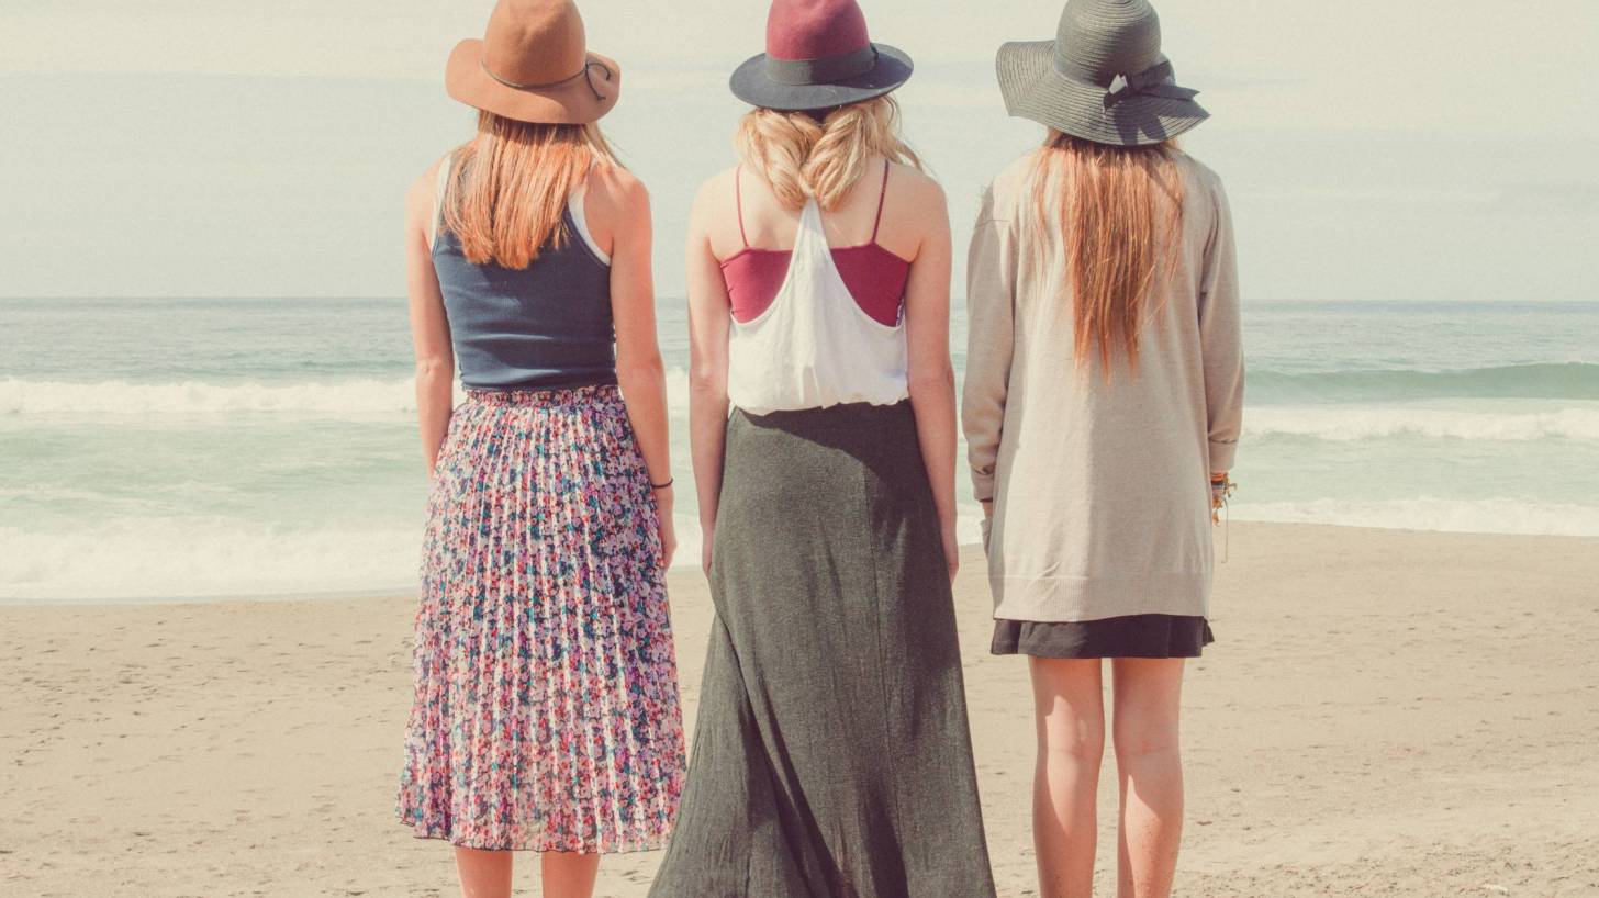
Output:
[[1105,754],[1099,658],[1030,658],[1038,764],[1033,847],[1041,898],[1094,893],[1094,793]]

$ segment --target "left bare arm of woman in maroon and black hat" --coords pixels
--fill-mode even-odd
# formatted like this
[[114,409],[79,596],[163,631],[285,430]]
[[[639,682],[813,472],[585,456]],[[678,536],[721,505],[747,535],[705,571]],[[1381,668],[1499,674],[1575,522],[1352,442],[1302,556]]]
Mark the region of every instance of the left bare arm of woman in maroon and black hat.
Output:
[[689,446],[694,452],[694,489],[699,497],[700,564],[710,574],[710,551],[721,499],[721,462],[728,439],[728,284],[710,248],[707,190],[689,216]]

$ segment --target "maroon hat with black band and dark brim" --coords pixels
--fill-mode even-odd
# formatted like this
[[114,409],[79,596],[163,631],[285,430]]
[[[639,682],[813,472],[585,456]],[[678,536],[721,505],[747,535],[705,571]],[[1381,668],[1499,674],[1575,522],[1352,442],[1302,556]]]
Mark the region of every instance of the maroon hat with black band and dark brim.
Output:
[[817,110],[883,96],[910,80],[902,50],[871,43],[855,0],[772,0],[766,53],[734,70],[734,96],[764,109]]

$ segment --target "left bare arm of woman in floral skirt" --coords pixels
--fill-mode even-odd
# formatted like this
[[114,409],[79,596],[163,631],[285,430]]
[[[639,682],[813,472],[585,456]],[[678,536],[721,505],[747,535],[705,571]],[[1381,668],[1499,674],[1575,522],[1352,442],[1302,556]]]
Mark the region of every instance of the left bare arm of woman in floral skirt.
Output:
[[445,296],[433,272],[429,246],[429,219],[433,214],[433,184],[438,168],[429,169],[406,197],[405,273],[411,302],[411,344],[416,352],[416,409],[422,431],[422,459],[429,476],[449,433],[454,411],[456,355],[449,345]]

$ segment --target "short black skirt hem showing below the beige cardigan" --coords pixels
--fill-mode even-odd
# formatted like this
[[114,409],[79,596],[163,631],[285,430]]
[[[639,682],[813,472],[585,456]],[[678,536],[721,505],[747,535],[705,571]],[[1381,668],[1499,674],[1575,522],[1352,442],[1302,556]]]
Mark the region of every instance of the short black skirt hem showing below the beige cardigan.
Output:
[[1198,658],[1215,642],[1210,622],[1175,614],[1102,620],[995,620],[995,655],[1035,658]]

